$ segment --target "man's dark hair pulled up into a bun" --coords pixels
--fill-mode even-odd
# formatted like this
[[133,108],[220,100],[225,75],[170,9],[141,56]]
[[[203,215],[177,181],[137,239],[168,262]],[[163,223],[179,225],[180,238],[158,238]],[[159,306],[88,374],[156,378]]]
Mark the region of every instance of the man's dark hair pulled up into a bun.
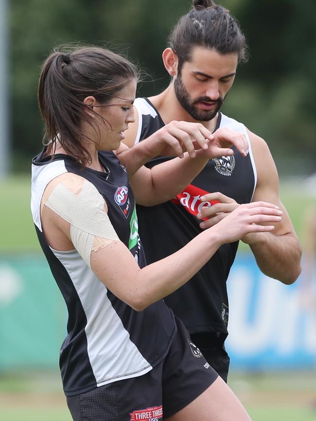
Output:
[[185,61],[190,61],[194,46],[213,48],[221,54],[237,53],[243,62],[248,58],[245,35],[238,22],[211,0],[193,0],[193,7],[179,19],[168,43],[178,56],[179,71]]

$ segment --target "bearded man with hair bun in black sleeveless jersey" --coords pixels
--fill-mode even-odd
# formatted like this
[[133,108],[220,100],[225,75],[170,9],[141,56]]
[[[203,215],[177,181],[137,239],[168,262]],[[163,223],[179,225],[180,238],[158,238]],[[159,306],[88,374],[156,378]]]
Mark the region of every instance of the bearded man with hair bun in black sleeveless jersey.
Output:
[[[131,147],[162,136],[175,121],[199,122],[211,132],[227,127],[243,134],[249,154],[244,158],[236,151],[234,156],[214,158],[173,200],[151,208],[138,206],[147,261],[153,263],[174,253],[226,218],[238,204],[264,200],[280,206],[282,221],[273,232],[248,234],[242,241],[250,246],[264,274],[284,284],[293,283],[301,270],[301,248],[279,198],[279,177],[269,148],[243,123],[220,112],[238,63],[247,60],[245,36],[224,7],[211,0],[193,0],[168,45],[162,59],[171,83],[156,96],[136,99],[136,121],[130,124],[124,142]],[[167,159],[157,157],[146,165],[153,168]],[[229,367],[224,345],[229,314],[226,281],[237,248],[238,242],[220,247],[191,281],[165,298],[225,381]]]

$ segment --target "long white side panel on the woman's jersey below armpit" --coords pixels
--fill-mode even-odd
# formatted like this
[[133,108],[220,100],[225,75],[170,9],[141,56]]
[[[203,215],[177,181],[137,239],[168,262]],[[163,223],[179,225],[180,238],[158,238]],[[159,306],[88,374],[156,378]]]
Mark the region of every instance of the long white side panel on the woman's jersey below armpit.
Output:
[[98,386],[143,375],[152,369],[130,340],[129,333],[108,299],[105,285],[80,254],[53,250],[67,270],[87,317],[89,361]]

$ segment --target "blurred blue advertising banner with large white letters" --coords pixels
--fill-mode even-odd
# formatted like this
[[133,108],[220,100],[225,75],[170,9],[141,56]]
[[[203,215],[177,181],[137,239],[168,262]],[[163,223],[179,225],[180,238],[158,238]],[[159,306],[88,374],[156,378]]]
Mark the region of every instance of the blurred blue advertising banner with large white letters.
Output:
[[306,368],[316,364],[316,280],[268,278],[239,255],[228,278],[227,349],[231,368]]

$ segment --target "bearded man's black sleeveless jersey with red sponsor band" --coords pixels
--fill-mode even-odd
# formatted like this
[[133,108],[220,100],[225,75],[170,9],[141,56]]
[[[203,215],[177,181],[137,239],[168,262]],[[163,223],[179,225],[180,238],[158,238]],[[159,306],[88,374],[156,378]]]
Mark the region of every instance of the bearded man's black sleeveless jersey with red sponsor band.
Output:
[[[139,114],[138,142],[164,126],[164,122],[147,98],[137,98],[134,105]],[[199,227],[201,221],[196,218],[201,207],[206,206],[199,200],[201,195],[221,192],[238,203],[251,201],[257,173],[246,128],[221,113],[216,129],[219,127],[243,133],[249,143],[248,156],[243,157],[233,148],[234,156],[210,160],[172,201],[151,208],[137,206],[140,238],[148,263],[176,252],[202,231]],[[166,159],[170,158],[157,157],[146,165],[152,167]],[[237,247],[238,242],[221,246],[191,281],[165,298],[190,333],[216,332],[225,340],[228,324],[226,281]]]

